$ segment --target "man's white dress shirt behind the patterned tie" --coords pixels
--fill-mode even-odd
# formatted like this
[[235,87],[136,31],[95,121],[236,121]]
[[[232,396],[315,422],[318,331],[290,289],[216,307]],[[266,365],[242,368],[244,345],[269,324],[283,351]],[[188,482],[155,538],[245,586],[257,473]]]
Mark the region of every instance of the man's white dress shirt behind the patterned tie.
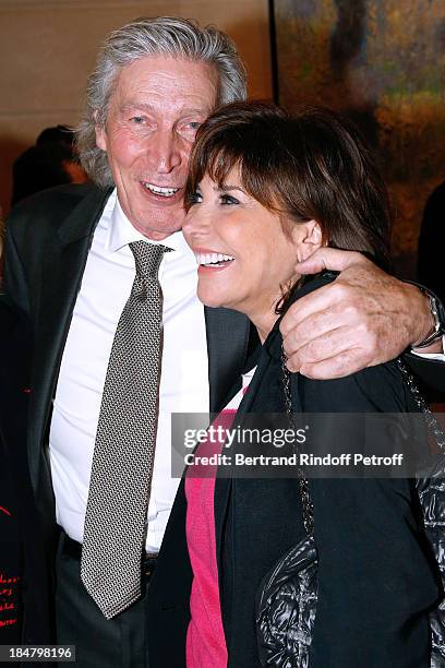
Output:
[[[101,395],[116,329],[135,276],[129,243],[148,240],[109,198],[87,257],[63,350],[49,434],[57,521],[82,542]],[[156,243],[149,241],[151,243]],[[147,552],[159,550],[179,480],[171,477],[171,413],[208,413],[204,307],[196,298],[196,261],[182,232],[159,269],[164,348],[159,421],[148,503]]]

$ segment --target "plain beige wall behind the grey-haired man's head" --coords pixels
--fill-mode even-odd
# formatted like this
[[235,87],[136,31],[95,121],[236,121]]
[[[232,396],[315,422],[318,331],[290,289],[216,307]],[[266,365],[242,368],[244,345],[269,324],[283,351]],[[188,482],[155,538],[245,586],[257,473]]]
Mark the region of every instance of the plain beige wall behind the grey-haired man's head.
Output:
[[97,47],[141,15],[214,23],[237,43],[250,95],[272,96],[267,0],[0,0],[0,205],[11,165],[44,128],[74,124]]

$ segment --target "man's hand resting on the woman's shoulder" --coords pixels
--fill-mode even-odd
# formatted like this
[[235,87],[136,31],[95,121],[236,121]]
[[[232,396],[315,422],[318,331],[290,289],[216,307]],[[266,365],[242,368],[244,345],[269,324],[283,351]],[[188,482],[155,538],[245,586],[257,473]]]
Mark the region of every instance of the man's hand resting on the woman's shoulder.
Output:
[[431,332],[428,297],[361,253],[322,248],[296,269],[300,274],[341,273],[334,283],[299,299],[282,319],[290,371],[340,378],[394,359]]

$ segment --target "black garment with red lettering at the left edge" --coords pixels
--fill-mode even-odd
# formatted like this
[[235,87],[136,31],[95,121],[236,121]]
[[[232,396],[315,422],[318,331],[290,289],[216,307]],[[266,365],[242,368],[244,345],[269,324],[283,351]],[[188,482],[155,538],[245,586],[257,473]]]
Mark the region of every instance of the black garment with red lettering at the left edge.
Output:
[[[49,564],[27,469],[31,353],[32,330],[27,319],[1,298],[0,573],[3,578],[20,580],[0,584],[0,644],[53,642]],[[14,607],[4,610],[11,603]],[[9,625],[8,621],[14,619],[16,622]]]

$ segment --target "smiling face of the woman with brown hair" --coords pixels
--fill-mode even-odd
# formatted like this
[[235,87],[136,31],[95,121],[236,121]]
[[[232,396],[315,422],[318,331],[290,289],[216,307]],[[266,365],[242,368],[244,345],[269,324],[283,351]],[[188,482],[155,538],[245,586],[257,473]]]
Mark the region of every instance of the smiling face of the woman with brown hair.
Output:
[[298,277],[297,235],[285,235],[278,214],[243,190],[238,170],[221,187],[205,176],[194,200],[182,229],[199,264],[199,298],[246,313],[256,325],[273,315],[272,326],[281,287]]

